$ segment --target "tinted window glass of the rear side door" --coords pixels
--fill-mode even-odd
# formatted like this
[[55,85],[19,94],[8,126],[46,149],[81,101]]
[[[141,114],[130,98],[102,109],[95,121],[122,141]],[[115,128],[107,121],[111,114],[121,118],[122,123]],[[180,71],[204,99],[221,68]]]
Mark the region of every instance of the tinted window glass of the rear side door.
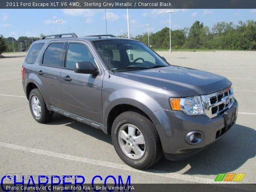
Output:
[[64,43],[53,43],[44,52],[43,65],[61,66],[62,48]]

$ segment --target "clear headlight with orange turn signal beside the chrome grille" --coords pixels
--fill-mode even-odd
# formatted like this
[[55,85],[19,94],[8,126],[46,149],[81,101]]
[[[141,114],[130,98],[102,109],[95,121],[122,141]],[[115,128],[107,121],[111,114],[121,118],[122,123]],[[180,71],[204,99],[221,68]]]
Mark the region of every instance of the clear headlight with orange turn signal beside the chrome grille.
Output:
[[200,96],[188,98],[170,98],[172,110],[181,110],[188,115],[203,115],[204,107]]

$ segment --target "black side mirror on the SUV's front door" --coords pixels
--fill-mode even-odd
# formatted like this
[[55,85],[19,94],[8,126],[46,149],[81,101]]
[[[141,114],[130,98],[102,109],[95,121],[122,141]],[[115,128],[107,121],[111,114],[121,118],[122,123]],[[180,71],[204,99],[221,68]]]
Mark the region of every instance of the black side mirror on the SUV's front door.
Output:
[[88,61],[76,62],[74,72],[93,75],[97,75],[99,73],[98,70],[94,67],[94,65]]

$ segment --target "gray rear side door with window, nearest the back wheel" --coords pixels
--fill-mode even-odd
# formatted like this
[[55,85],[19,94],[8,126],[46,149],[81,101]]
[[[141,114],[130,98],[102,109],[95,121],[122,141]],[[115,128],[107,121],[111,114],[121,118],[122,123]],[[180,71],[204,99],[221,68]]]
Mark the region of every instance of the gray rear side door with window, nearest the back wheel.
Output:
[[63,63],[64,41],[52,41],[42,54],[36,68],[37,77],[42,85],[46,104],[63,109],[60,91],[60,69]]

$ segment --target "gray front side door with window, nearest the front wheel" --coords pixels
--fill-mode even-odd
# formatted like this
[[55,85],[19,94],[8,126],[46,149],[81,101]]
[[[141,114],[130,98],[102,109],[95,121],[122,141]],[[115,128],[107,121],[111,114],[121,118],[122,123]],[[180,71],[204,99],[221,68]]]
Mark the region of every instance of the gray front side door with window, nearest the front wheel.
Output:
[[[66,111],[102,123],[103,73],[94,58],[96,56],[86,42],[68,42],[65,64],[60,72],[62,102]],[[75,73],[74,66],[79,61],[91,62],[99,74]]]

